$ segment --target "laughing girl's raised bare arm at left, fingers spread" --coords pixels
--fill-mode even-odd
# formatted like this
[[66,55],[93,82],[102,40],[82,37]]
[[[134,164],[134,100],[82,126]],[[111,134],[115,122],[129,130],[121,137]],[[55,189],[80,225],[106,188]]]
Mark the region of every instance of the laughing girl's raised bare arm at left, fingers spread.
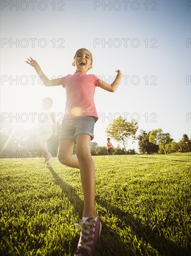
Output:
[[40,80],[44,83],[45,86],[57,86],[57,85],[61,85],[61,81],[62,78],[56,78],[56,79],[48,79],[48,77],[43,73],[42,69],[40,68],[40,66],[38,65],[38,62],[33,60],[32,57],[30,57],[31,59],[28,59],[28,61],[25,61],[26,63],[28,63],[29,65],[31,65],[32,67],[34,67],[34,69],[36,70]]

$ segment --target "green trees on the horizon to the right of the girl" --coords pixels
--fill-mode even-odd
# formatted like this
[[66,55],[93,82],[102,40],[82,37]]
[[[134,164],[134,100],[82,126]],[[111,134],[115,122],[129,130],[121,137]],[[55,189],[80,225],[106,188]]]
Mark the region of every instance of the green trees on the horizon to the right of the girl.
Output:
[[175,142],[170,133],[164,133],[161,128],[148,132],[141,129],[140,135],[136,136],[137,130],[137,121],[128,122],[120,116],[108,124],[106,133],[123,145],[126,154],[128,153],[126,150],[127,143],[130,139],[133,142],[138,140],[140,154],[169,154],[177,151],[190,152],[191,150],[191,139],[186,134],[178,142]]

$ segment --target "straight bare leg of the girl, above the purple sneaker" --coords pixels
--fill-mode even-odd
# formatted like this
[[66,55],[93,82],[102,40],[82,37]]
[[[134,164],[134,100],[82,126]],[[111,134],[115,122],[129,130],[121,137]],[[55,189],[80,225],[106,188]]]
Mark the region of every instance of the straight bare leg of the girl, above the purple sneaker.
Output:
[[83,217],[96,217],[95,209],[95,165],[90,153],[90,136],[76,136],[76,155],[80,166],[83,188],[84,209]]

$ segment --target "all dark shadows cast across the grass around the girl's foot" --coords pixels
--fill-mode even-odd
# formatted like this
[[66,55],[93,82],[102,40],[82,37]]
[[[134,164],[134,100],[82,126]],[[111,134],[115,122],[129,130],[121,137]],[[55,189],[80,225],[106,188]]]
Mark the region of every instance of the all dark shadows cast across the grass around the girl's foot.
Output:
[[[55,179],[55,184],[59,185],[62,189],[64,195],[68,198],[68,200],[73,205],[74,209],[78,216],[82,215],[83,211],[83,201],[77,195],[75,189],[64,182],[59,175],[50,168],[51,174]],[[173,256],[187,256],[189,252],[185,248],[180,248],[177,244],[173,243],[165,236],[160,235],[158,230],[153,230],[146,225],[142,225],[142,223],[135,219],[132,215],[121,211],[121,209],[111,206],[107,202],[102,201],[98,196],[96,196],[96,202],[107,211],[113,213],[114,216],[117,216],[121,219],[125,226],[130,226],[134,234],[137,236],[138,241],[142,239],[142,241],[146,242],[146,244],[150,244],[153,249],[156,249],[160,255],[173,255]],[[101,220],[102,221],[102,220]],[[122,227],[121,227],[122,228]],[[71,244],[71,252],[74,252],[76,249],[76,245],[78,243],[79,235],[76,234],[70,241]],[[108,225],[102,221],[102,233],[99,239],[96,256],[131,256],[131,255],[148,255],[148,251],[144,246],[140,249],[136,249],[132,246],[131,241],[123,242],[121,241],[120,236],[113,230],[112,227],[108,227]],[[155,253],[153,254],[155,255]]]

